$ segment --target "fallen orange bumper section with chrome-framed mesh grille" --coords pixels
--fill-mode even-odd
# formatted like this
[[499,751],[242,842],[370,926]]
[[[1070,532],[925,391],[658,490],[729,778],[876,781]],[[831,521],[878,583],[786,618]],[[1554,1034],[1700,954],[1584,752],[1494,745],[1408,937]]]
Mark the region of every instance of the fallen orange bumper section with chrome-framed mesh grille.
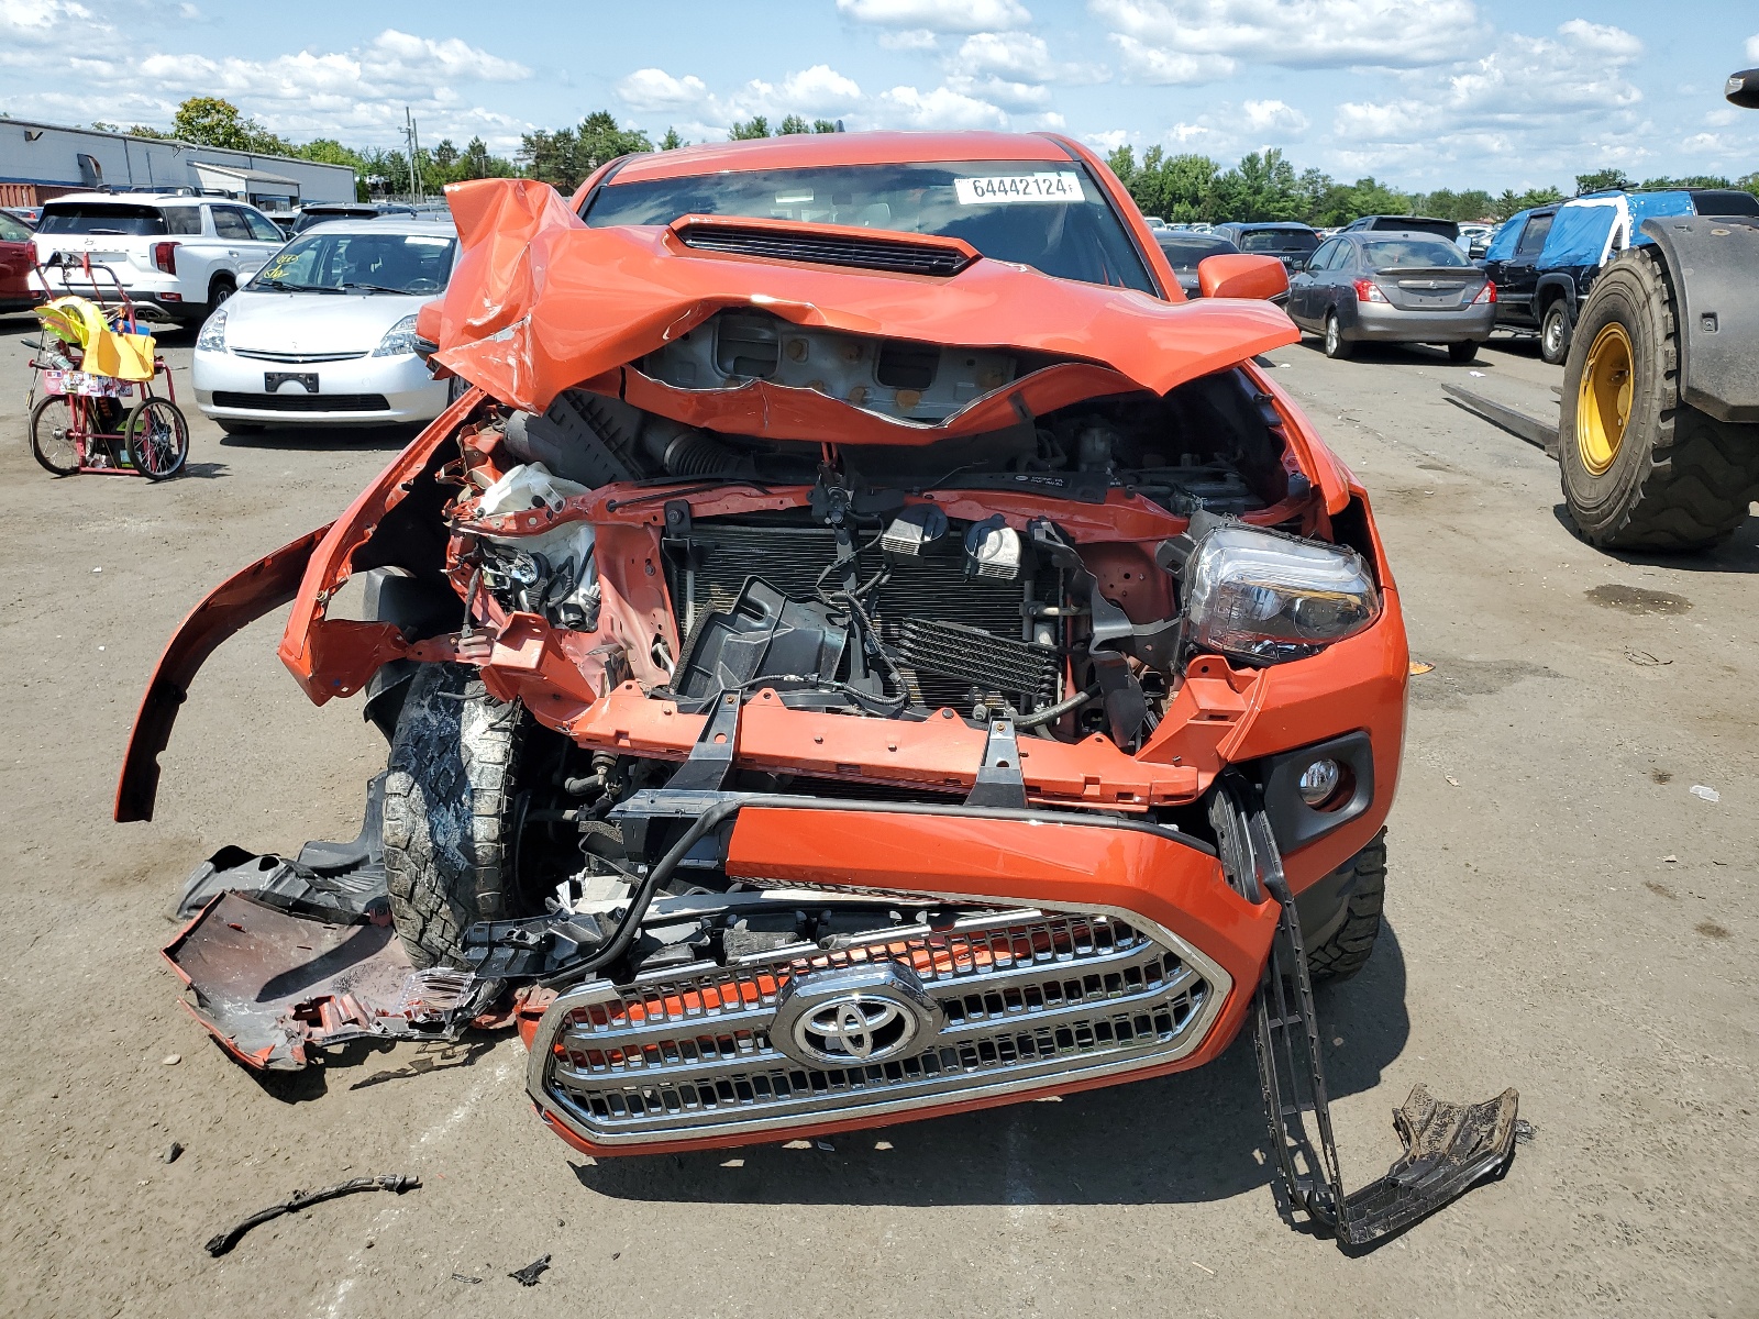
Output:
[[[857,825],[827,805],[744,811],[728,874],[783,907],[844,890],[983,911],[563,994],[524,1022],[528,1092],[563,1140],[649,1154],[844,1131],[1194,1068],[1238,1032],[1277,915],[1203,844],[909,807]],[[913,1013],[909,1045],[841,1066],[802,1053],[800,1020],[862,1002]]]

